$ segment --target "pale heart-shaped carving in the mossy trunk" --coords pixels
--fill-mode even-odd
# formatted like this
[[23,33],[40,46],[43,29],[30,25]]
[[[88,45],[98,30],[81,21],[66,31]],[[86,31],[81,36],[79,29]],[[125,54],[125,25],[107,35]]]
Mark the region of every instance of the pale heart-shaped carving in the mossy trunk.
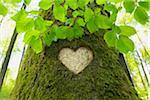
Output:
[[93,52],[85,47],[80,47],[76,51],[63,48],[59,53],[59,60],[70,71],[78,74],[93,60]]

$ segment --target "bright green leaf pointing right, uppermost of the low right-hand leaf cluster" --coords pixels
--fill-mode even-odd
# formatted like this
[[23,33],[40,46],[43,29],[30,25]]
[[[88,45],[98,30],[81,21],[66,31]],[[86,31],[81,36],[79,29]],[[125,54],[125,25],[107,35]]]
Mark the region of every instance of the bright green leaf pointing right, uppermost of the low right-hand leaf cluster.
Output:
[[136,30],[131,26],[120,26],[121,35],[131,36],[136,33]]

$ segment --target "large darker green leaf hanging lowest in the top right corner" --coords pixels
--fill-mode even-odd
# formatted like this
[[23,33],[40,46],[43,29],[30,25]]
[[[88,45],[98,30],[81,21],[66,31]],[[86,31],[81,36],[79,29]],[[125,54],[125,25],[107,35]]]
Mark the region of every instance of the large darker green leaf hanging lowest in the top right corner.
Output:
[[134,18],[141,24],[146,24],[148,22],[149,17],[146,11],[142,7],[137,7],[134,12]]

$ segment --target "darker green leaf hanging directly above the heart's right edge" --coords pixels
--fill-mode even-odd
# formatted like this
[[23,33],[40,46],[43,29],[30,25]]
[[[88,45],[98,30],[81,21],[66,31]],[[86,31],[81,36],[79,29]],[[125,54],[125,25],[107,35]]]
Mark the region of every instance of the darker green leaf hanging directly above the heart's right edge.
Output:
[[90,33],[94,33],[97,31],[98,27],[97,25],[95,24],[95,20],[94,18],[92,18],[91,20],[89,20],[87,22],[87,29],[89,30]]

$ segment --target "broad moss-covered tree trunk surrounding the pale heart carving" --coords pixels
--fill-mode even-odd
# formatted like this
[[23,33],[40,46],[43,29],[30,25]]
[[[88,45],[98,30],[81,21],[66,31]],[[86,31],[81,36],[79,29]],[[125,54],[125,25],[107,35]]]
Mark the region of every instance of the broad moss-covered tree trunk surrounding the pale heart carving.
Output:
[[[139,100],[119,62],[118,52],[108,48],[100,35],[59,40],[40,54],[28,48],[11,100]],[[92,62],[74,74],[58,59],[65,47],[91,49]]]

